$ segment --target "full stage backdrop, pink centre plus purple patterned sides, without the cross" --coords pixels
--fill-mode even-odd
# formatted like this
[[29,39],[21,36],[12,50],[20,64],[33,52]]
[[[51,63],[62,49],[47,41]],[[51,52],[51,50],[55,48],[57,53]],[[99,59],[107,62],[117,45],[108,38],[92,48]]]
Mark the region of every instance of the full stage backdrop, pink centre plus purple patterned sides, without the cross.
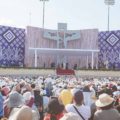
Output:
[[[24,66],[34,67],[34,52],[29,47],[56,48],[57,42],[45,39],[42,29],[27,27],[25,29],[8,26],[0,26],[0,66]],[[80,39],[70,40],[67,48],[79,49],[97,49],[100,52],[98,56],[99,66],[107,64],[108,68],[120,69],[120,30],[99,32],[97,29],[80,30]],[[46,62],[46,67],[50,67],[51,62],[56,61],[56,56],[39,55],[38,67],[42,67]],[[80,60],[79,60],[80,59]],[[79,66],[86,66],[86,58],[69,57],[71,65],[77,63]],[[97,58],[95,58],[97,64]],[[25,63],[24,63],[25,61]],[[91,58],[89,58],[91,62]],[[89,62],[88,61],[88,62]]]

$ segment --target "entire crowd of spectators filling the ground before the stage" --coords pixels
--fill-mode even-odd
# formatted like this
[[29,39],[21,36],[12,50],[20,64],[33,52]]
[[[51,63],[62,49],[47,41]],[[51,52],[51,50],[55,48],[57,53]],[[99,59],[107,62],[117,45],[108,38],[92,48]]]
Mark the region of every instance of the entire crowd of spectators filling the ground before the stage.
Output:
[[120,79],[0,77],[1,120],[120,120]]

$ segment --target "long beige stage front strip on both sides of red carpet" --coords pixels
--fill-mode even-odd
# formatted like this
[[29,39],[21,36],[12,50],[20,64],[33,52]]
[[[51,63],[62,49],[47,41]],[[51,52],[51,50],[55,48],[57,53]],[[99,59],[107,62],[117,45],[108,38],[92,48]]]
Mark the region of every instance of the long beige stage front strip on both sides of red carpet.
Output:
[[[23,68],[0,68],[0,76],[38,76],[38,75],[56,75],[55,69],[23,69]],[[89,76],[89,77],[120,77],[120,71],[105,71],[105,70],[75,70],[76,76]]]

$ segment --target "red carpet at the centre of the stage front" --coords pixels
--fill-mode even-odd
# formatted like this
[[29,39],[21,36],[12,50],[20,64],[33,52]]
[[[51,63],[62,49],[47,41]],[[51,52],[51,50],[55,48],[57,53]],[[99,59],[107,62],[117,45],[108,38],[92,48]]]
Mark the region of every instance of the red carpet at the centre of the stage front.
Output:
[[72,69],[56,69],[57,75],[75,75],[75,71]]

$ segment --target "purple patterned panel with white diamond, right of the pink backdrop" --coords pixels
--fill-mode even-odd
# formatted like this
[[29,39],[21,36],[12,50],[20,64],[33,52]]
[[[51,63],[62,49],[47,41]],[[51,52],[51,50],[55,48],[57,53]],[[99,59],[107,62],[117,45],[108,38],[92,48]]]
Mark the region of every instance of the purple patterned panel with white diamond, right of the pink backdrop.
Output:
[[99,65],[108,64],[108,68],[120,68],[120,31],[99,33]]

